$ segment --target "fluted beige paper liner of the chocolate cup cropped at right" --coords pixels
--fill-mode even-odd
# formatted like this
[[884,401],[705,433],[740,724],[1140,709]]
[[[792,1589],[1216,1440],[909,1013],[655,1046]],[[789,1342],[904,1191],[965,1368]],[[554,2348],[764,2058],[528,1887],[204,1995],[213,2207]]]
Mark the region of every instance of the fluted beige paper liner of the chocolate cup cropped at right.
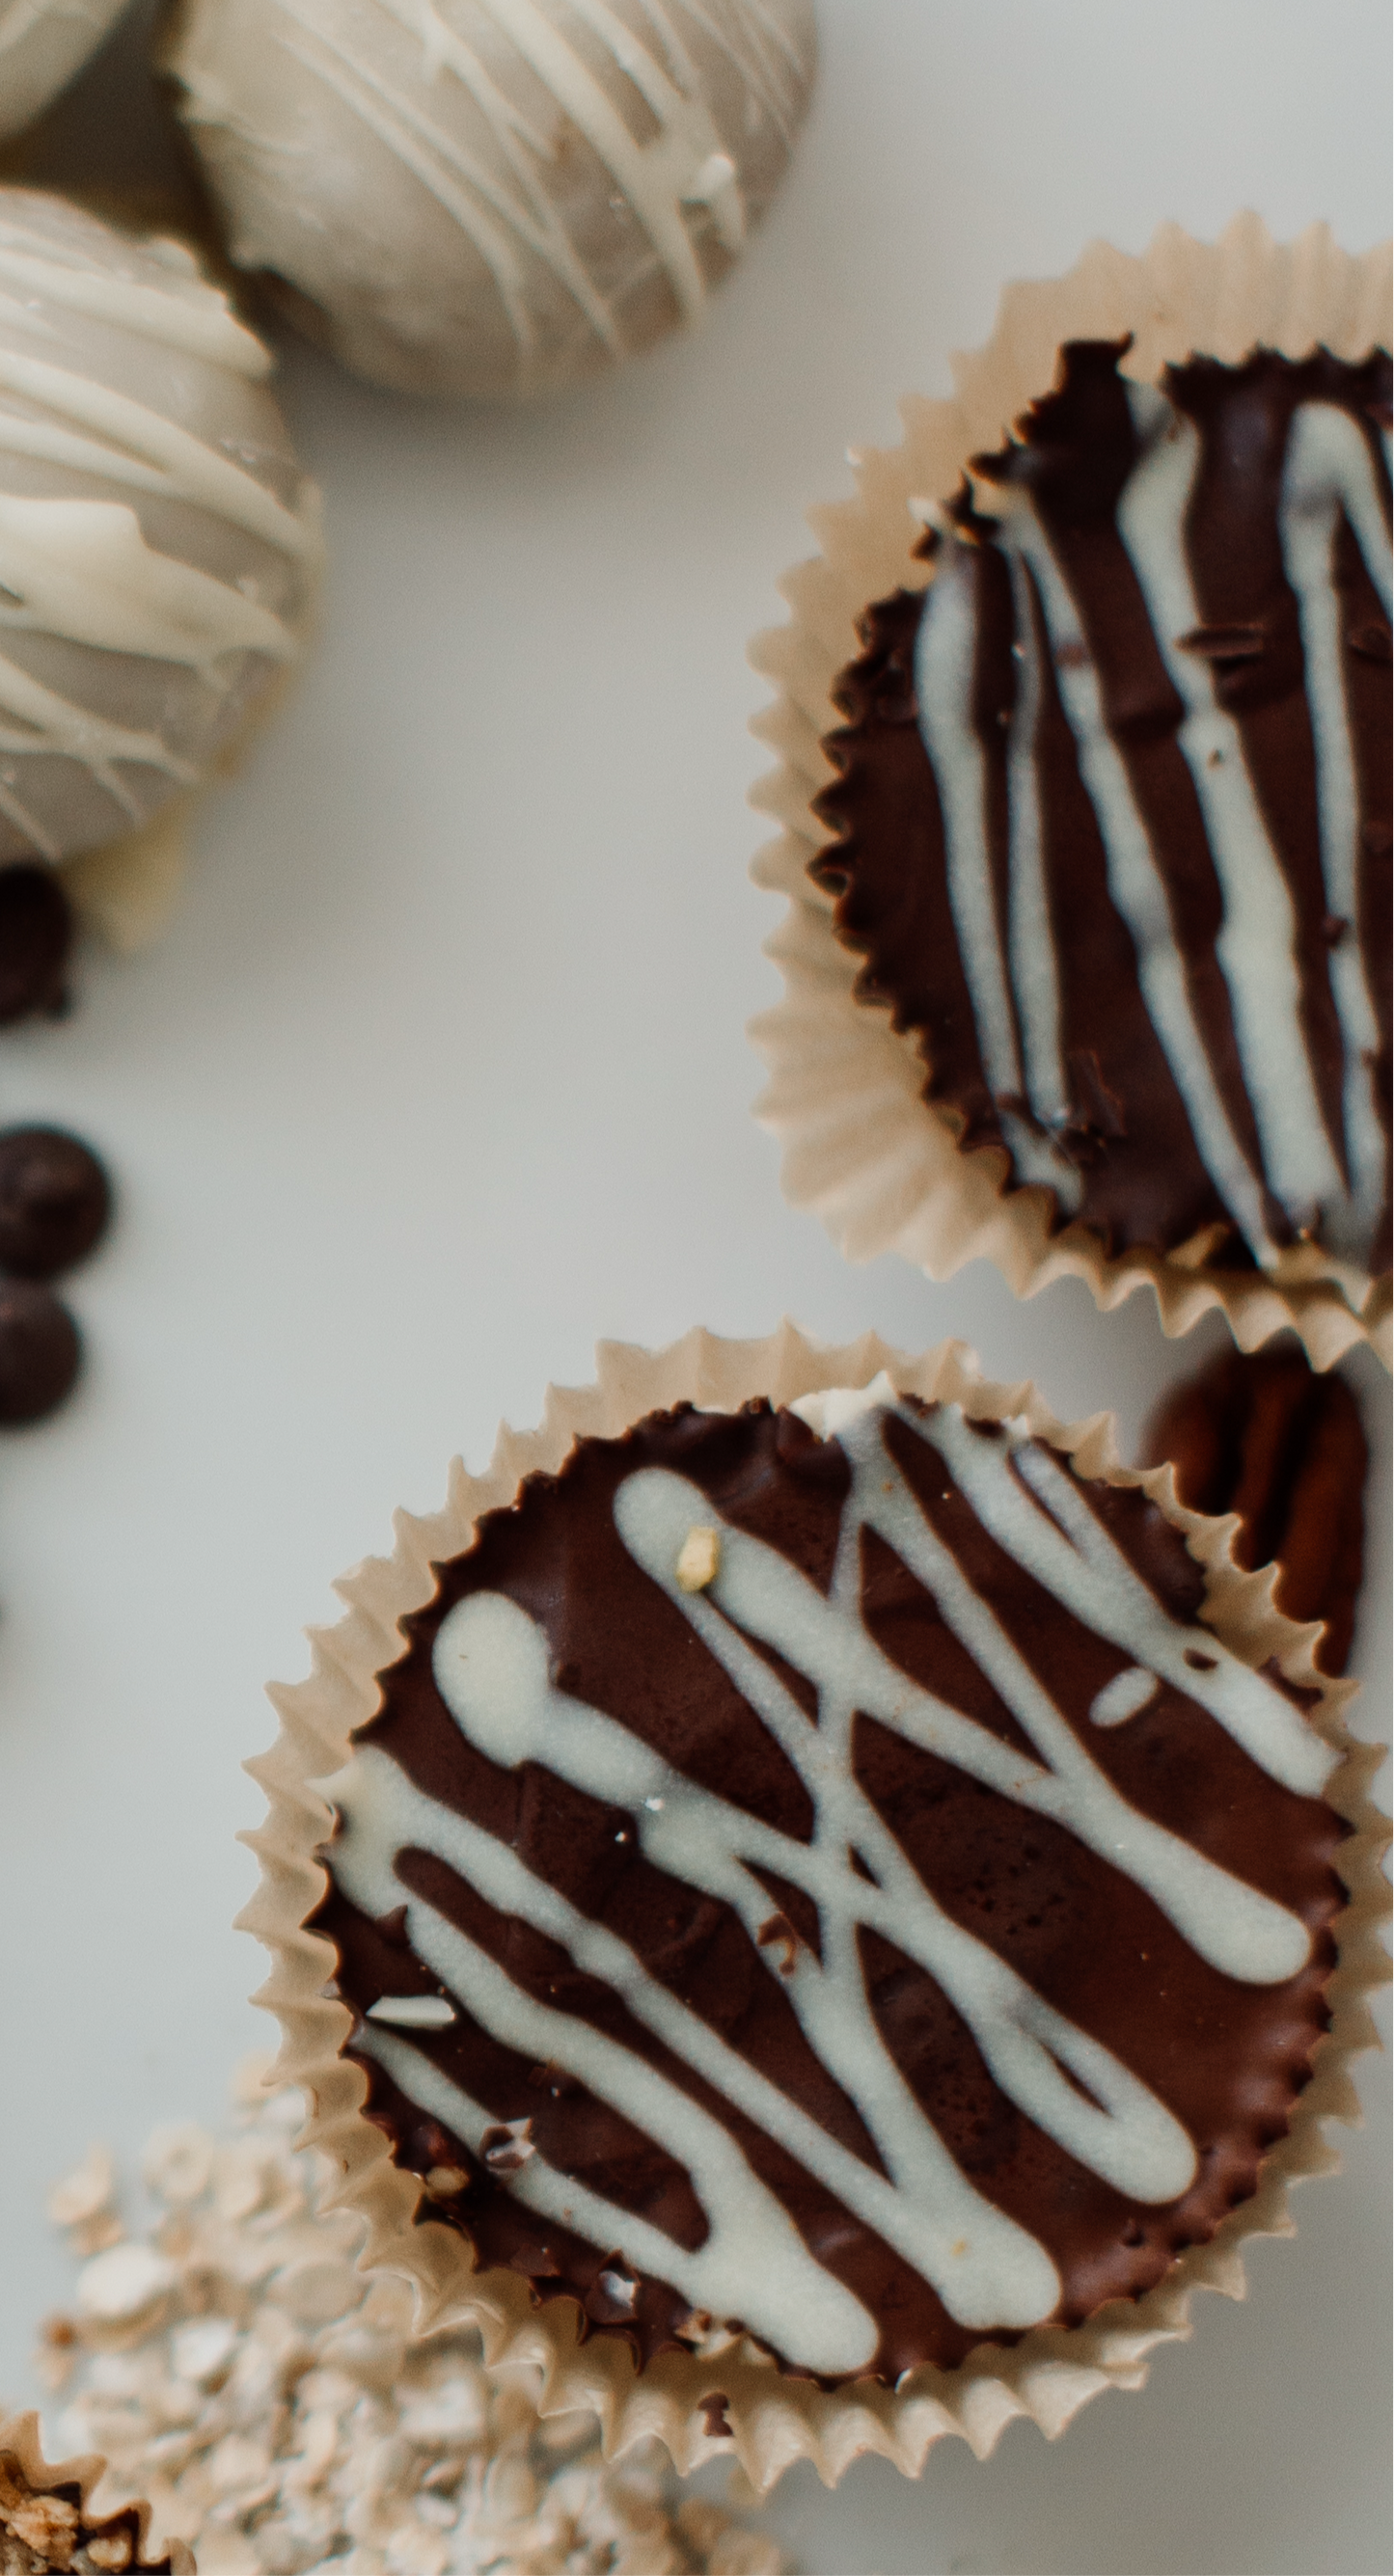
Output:
[[1394,1273],[1337,1273],[1314,1247],[1296,1247],[1273,1273],[1219,1273],[1206,1267],[1203,1239],[1105,1260],[1085,1226],[1049,1231],[1046,1190],[1002,1198],[1002,1151],[959,1151],[951,1113],[922,1095],[920,1041],[897,1036],[889,1010],[853,997],[861,958],[837,938],[832,896],[809,878],[809,858],[832,840],[812,799],[835,778],[822,737],[843,721],[830,690],[861,652],[861,611],[899,587],[925,590],[930,567],[915,556],[922,505],[948,500],[966,459],[1002,446],[1028,402],[1051,389],[1062,340],[1123,332],[1134,332],[1123,371],[1147,381],[1196,350],[1237,361],[1255,343],[1291,358],[1314,343],[1342,358],[1394,348],[1394,242],[1348,258],[1314,224],[1278,245],[1255,214],[1237,216],[1219,242],[1165,224],[1136,260],[1093,242],[1067,278],[1007,286],[987,348],[953,358],[956,397],[910,397],[904,443],[853,459],[858,497],[809,513],[822,556],[781,582],[794,618],[750,652],[778,688],[755,734],[781,760],[755,804],[783,827],[752,876],[788,896],[765,948],[786,992],[750,1025],[770,1066],[755,1115],[783,1146],[786,1198],[817,1208],[850,1260],[894,1249],[943,1280],[984,1255],[1018,1296],[1085,1278],[1103,1309],[1149,1285],[1167,1334],[1221,1306],[1242,1350],[1291,1324],[1314,1368],[1353,1342],[1373,1342],[1394,1368]]

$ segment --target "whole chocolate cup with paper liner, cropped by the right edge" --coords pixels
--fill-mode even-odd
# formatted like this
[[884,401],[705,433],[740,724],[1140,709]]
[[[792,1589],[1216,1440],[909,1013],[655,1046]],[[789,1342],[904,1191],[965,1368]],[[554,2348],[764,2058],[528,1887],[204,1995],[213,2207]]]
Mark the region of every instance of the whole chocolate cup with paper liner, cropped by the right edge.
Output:
[[1100,242],[817,513],[752,1036],[853,1260],[1394,1365],[1391,350],[1319,227]]

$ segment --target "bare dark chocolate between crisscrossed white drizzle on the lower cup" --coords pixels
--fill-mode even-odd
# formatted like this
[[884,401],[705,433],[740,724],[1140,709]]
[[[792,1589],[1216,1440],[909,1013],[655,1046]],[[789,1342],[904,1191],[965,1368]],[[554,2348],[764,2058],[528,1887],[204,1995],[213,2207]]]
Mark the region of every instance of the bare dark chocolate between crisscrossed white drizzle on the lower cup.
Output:
[[[1255,2192],[1263,2151],[1286,2133],[1312,2045],[1327,2025],[1330,1927],[1342,1906],[1332,1855],[1345,1829],[1324,1798],[1296,1795],[1260,1770],[1183,1687],[1162,1682],[1129,1723],[1100,1718],[1090,1726],[1087,1710],[1129,1669],[1129,1656],[1082,1625],[987,1533],[917,1422],[930,1414],[915,1404],[904,1419],[884,1417],[892,1473],[904,1479],[925,1525],[992,1605],[1093,1762],[1144,1816],[1278,1899],[1312,1932],[1312,1955],[1296,1976],[1275,1986],[1239,1984],[1206,1965],[1162,1906],[1069,1829],[1023,1811],[889,1726],[853,1718],[855,1783],[910,1857],[917,1883],[1049,2007],[1116,2050],[1196,2143],[1196,2177],[1180,2197],[1167,2205],[1129,2200],[997,2087],[940,1986],[892,1940],[861,1932],[861,1976],[894,2066],[959,2172],[1049,2246],[1062,2277],[1056,2321],[1077,2324],[1111,2298],[1149,2290],[1183,2246],[1211,2236]],[[642,1468],[688,1479],[709,1499],[716,1528],[765,1540],[827,1595],[850,1489],[843,1445],[814,1437],[801,1419],[768,1404],[734,1417],[691,1406],[649,1414],[618,1440],[577,1440],[557,1476],[531,1476],[510,1510],[484,1515],[466,1553],[438,1569],[433,1602],[402,1623],[402,1659],[384,1672],[381,1713],[358,1731],[356,1747],[387,1754],[433,1801],[520,1855],[593,1924],[621,1935],[667,1994],[879,2172],[868,2125],[809,2045],[781,1976],[801,1942],[822,1958],[817,1904],[788,1878],[760,1873],[768,1922],[752,1937],[729,1904],[644,1857],[642,1798],[634,1808],[593,1798],[536,1759],[500,1767],[469,1741],[441,1695],[433,1649],[443,1620],[472,1595],[502,1595],[539,1623],[554,1690],[603,1710],[685,1780],[791,1837],[791,1850],[809,1842],[814,1808],[804,1780],[698,1638],[680,1597],[649,1579],[621,1543],[616,1494]],[[1185,1667],[1211,1674],[1214,1638],[1193,1628],[1203,1579],[1178,1533],[1136,1489],[1072,1479],[1072,1492],[1136,1569],[1147,1597],[1196,1636]],[[727,1535],[724,1546],[732,1543]],[[938,1600],[866,1528],[861,1625],[899,1672],[995,1741],[1031,1752]],[[817,1726],[819,1700],[804,1672],[770,1643],[758,1654]],[[1281,1705],[1306,1734],[1291,1698]],[[368,2117],[384,2128],[402,2166],[430,2177],[420,2218],[459,2226],[482,2264],[520,2269],[539,2298],[575,2298],[582,2331],[626,2334],[639,2360],[683,2339],[680,2329],[691,2342],[685,2295],[616,2262],[613,2244],[546,2223],[510,2187],[531,2148],[691,2249],[701,2246],[709,2221],[683,2161],[575,2076],[484,2030],[459,1991],[451,2027],[412,2030],[410,2040],[497,2123],[479,2151],[389,2079],[374,2056],[376,2025],[363,2014],[384,1996],[441,1996],[443,1986],[407,1942],[405,1904],[371,1919],[348,1899],[335,1880],[343,1847],[335,1837],[322,1855],[330,1886],[312,1922],[332,1940],[338,1991],[358,2014],[348,2053],[368,2081]],[[871,1878],[866,1862],[850,1857]],[[1010,2329],[956,2321],[874,2226],[665,2048],[613,1986],[582,1973],[564,1947],[515,1914],[495,1911],[428,1852],[399,1850],[397,1875],[410,1896],[428,1899],[502,1960],[523,1994],[608,2032],[724,2123],[819,2264],[874,2313],[876,2375],[894,2383],[917,2362],[956,2365],[984,2339],[1015,2339]],[[520,2154],[518,2138],[526,2141]],[[778,2357],[799,2367],[799,2354]]]

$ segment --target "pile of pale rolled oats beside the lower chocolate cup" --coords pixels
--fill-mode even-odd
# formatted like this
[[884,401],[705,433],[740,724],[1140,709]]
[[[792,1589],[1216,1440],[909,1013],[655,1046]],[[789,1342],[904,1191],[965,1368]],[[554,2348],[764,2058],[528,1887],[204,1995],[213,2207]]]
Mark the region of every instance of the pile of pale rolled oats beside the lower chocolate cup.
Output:
[[155,2130],[144,2236],[103,2148],[49,2197],[82,2269],[39,2372],[54,2442],[106,2455],[93,2509],[149,2499],[198,2576],[786,2576],[654,2458],[606,2468],[590,2416],[539,2419],[472,2331],[412,2339],[407,2285],[353,2269],[358,2223],[291,2146],[299,2094],[247,2069],[240,2112]]

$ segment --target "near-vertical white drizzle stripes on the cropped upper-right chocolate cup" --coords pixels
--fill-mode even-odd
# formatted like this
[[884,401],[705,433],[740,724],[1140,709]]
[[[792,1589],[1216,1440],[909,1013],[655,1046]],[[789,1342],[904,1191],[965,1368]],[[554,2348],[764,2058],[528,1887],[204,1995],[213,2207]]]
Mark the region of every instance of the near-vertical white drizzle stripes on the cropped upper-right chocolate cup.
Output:
[[[1123,750],[1108,724],[1100,672],[1080,603],[1026,482],[982,482],[977,505],[1013,577],[1018,696],[1007,737],[1007,961],[987,860],[984,747],[974,726],[974,574],[971,546],[946,528],[915,647],[920,734],[930,757],[946,842],[948,894],[977,1046],[997,1100],[1002,1139],[1023,1180],[1056,1190],[1069,1213],[1080,1177],[1056,1139],[1069,1123],[1059,1043],[1059,958],[1041,876],[1036,729],[1041,652],[1033,600],[1049,639],[1054,683],[1074,737],[1080,778],[1093,801],[1108,863],[1108,891],[1126,922],[1139,989],[1185,1108],[1201,1162],[1263,1267],[1281,1247],[1265,1216],[1265,1188],[1296,1234],[1319,1226],[1348,1262],[1371,1255],[1389,1193],[1389,1141],[1376,1108],[1379,1023],[1358,938],[1358,791],[1340,652],[1335,544],[1345,523],[1394,621],[1394,443],[1373,440],[1340,404],[1296,404],[1288,430],[1278,536],[1299,603],[1306,706],[1317,757],[1319,848],[1327,912],[1353,925],[1330,953],[1330,992],[1342,1036],[1342,1133],[1327,1131],[1301,1015],[1296,909],[1283,863],[1250,775],[1239,724],[1224,711],[1216,677],[1185,639],[1201,626],[1185,551],[1188,505],[1201,466],[1201,435],[1157,386],[1129,384],[1136,459],[1116,528],[1136,574],[1152,639],[1183,701],[1178,747],[1201,806],[1224,904],[1216,961],[1229,992],[1247,1103],[1260,1139],[1260,1170],[1239,1141],[1211,1066],[1188,989],[1165,858],[1149,837]],[[1386,489],[1379,489],[1376,453]],[[1020,1023],[1020,1046],[1018,1046]],[[1028,1118],[1020,1110],[1028,1108]]]

